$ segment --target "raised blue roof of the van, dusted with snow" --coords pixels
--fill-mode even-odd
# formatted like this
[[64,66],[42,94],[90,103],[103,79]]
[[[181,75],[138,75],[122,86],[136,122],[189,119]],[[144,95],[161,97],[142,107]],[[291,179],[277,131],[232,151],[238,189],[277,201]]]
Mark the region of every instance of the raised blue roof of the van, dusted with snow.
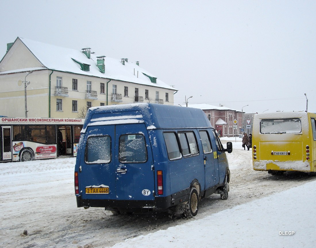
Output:
[[122,104],[89,108],[83,125],[141,123],[154,128],[211,127],[203,110],[154,103]]

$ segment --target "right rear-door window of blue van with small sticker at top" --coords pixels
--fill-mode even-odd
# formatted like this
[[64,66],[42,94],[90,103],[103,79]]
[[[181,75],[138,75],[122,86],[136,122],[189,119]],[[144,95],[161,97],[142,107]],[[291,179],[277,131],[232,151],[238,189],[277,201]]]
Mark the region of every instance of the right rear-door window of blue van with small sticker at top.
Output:
[[119,137],[119,161],[146,162],[147,149],[143,134],[124,134]]

